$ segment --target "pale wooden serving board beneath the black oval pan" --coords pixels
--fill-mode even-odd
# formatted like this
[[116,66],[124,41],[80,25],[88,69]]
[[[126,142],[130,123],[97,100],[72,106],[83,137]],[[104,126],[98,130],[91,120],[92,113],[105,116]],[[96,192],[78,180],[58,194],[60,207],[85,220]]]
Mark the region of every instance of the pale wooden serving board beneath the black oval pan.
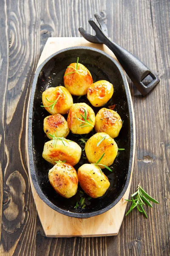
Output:
[[[48,38],[45,47],[40,56],[38,66],[54,52],[61,49],[75,46],[88,46],[98,48],[102,51],[107,52],[113,58],[116,59],[113,52],[111,52],[108,47],[102,44],[92,44],[86,41],[84,38]],[[130,94],[130,91],[129,91]],[[131,96],[130,96],[131,100]],[[132,105],[132,100],[131,100]],[[29,104],[28,104],[29,107]],[[133,112],[133,105],[132,105]],[[135,154],[135,120],[133,113],[133,163]],[[26,148],[28,149],[28,111],[27,111],[27,125],[26,125]],[[71,237],[71,236],[81,236],[81,237],[91,237],[91,236],[116,236],[119,232],[122,220],[125,214],[125,209],[127,206],[127,199],[130,191],[130,184],[132,180],[133,173],[133,163],[132,172],[130,176],[130,183],[127,187],[127,191],[122,199],[109,211],[88,219],[78,219],[62,215],[59,212],[51,209],[47,204],[45,204],[40,197],[37,195],[34,185],[31,180],[31,174],[29,169],[29,156],[27,150],[27,163],[28,172],[31,183],[32,194],[37,207],[37,212],[44,229],[45,235],[48,237]]]

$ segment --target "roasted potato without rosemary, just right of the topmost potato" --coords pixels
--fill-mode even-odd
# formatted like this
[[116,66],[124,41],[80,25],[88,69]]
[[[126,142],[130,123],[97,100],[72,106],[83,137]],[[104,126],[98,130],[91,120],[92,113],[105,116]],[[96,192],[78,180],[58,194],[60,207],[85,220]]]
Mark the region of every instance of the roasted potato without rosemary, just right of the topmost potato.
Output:
[[101,80],[88,87],[87,97],[94,107],[101,107],[111,99],[113,91],[113,84]]

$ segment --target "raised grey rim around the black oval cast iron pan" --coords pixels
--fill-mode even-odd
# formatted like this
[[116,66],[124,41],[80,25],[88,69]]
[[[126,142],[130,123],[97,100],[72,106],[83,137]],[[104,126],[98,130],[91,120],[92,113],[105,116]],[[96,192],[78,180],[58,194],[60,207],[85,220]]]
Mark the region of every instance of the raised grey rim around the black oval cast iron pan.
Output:
[[[102,55],[105,55],[105,57],[109,58],[116,65],[116,67],[119,70],[120,75],[122,76],[122,80],[123,80],[123,84],[124,84],[124,88],[125,88],[125,93],[126,93],[126,97],[127,97],[129,120],[130,120],[130,156],[129,156],[129,166],[128,166],[128,172],[127,172],[127,178],[126,178],[125,186],[122,189],[122,192],[120,193],[120,195],[111,204],[109,204],[107,207],[105,207],[103,209],[96,210],[94,212],[88,212],[88,213],[70,212],[68,210],[61,209],[61,208],[57,207],[50,200],[48,200],[48,198],[42,192],[42,189],[40,188],[40,186],[38,184],[38,181],[37,181],[36,172],[35,172],[35,168],[34,168],[33,145],[32,145],[32,113],[33,113],[34,93],[35,93],[35,90],[36,90],[38,76],[39,76],[42,68],[44,67],[44,65],[51,58],[53,58],[56,55],[59,55],[62,52],[66,52],[66,51],[69,51],[69,50],[77,50],[77,49],[86,49],[86,50],[91,50],[91,51],[94,51],[94,52],[98,52]],[[132,106],[132,102],[131,102],[130,99],[131,99],[130,91],[129,91],[129,88],[128,88],[127,80],[125,78],[125,74],[123,73],[123,70],[122,70],[121,66],[110,55],[108,55],[107,53],[105,53],[105,52],[103,52],[99,49],[96,49],[96,48],[93,48],[93,47],[69,47],[69,48],[65,48],[65,49],[62,49],[58,52],[55,52],[54,54],[52,54],[51,56],[46,58],[42,62],[42,64],[40,64],[40,66],[37,68],[37,70],[35,72],[34,79],[33,79],[33,82],[32,82],[32,87],[31,87],[31,97],[30,97],[29,109],[28,109],[28,148],[27,149],[28,149],[28,155],[29,155],[28,164],[29,164],[31,179],[32,179],[32,182],[33,182],[33,185],[34,185],[34,188],[35,188],[37,194],[42,199],[42,201],[45,202],[45,204],[47,204],[49,207],[51,207],[55,211],[57,211],[59,213],[62,213],[64,215],[70,216],[70,217],[90,218],[90,217],[100,215],[100,214],[108,211],[109,209],[113,208],[121,200],[121,198],[123,197],[123,195],[125,194],[125,192],[127,190],[127,187],[129,185],[129,182],[130,182],[130,175],[131,175],[131,172],[133,171],[133,148],[134,148],[133,132],[134,132],[134,128],[133,128],[133,106]]]

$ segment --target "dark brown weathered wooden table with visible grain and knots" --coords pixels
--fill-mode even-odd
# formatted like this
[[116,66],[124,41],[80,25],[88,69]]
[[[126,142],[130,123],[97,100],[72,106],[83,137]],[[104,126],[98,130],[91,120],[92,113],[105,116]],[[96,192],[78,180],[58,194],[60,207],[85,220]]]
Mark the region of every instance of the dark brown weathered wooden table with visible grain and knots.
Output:
[[[31,82],[48,37],[80,36],[99,12],[109,36],[139,57],[161,82],[146,97],[129,81],[136,118],[138,183],[159,201],[145,219],[134,210],[118,236],[46,238],[28,179],[25,123]],[[0,1],[0,255],[170,255],[170,1]]]

